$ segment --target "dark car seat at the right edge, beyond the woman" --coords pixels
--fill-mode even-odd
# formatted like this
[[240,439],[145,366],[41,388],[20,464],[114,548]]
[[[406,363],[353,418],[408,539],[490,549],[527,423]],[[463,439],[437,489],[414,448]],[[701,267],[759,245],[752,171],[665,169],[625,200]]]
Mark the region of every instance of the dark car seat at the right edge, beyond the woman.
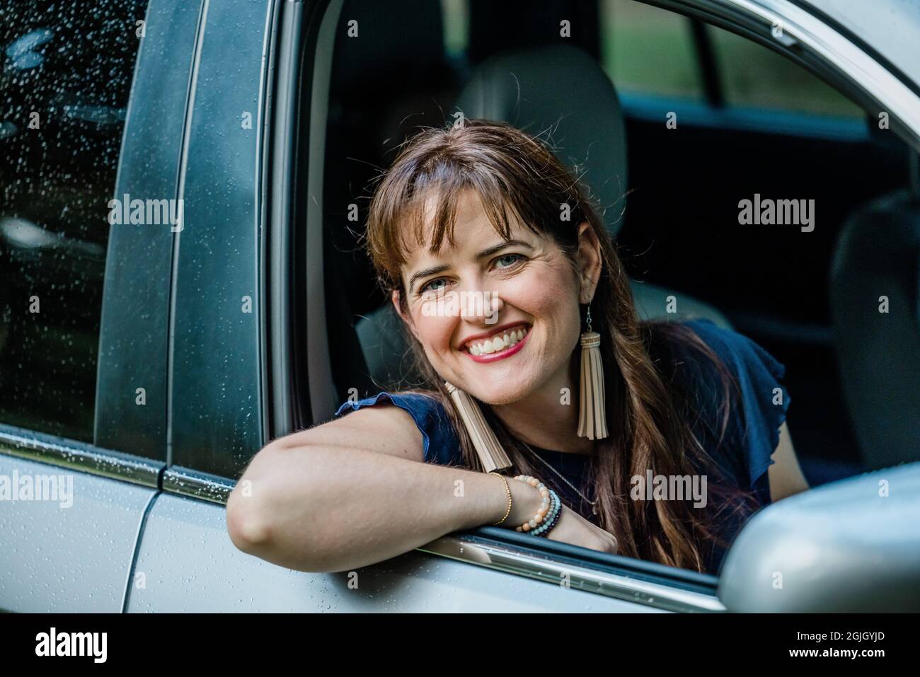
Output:
[[918,461],[920,190],[849,216],[830,276],[837,367],[863,463]]

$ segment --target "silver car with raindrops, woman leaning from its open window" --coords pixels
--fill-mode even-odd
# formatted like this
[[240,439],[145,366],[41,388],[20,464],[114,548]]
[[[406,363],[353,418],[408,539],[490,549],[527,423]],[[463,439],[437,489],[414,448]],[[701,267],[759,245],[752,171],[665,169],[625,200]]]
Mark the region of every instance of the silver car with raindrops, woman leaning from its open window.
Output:
[[[0,610],[920,611],[920,6],[562,5],[0,2]],[[679,290],[799,379],[813,488],[718,576],[489,526],[357,572],[231,543],[254,453],[404,375],[362,185],[457,110],[596,143],[643,316]],[[814,231],[716,230],[761,187]]]

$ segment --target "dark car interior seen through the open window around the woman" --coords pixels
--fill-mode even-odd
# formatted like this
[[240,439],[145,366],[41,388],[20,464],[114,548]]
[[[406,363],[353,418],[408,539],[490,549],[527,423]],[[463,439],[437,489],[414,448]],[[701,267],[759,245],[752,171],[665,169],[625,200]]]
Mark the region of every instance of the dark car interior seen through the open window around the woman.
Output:
[[[786,365],[812,487],[920,460],[916,155],[876,111],[727,30],[633,0],[540,5],[345,3],[323,196],[339,402],[412,382],[361,249],[368,186],[413,130],[462,110],[551,130],[604,206],[640,316],[709,318]],[[740,224],[755,194],[813,200],[816,227]]]

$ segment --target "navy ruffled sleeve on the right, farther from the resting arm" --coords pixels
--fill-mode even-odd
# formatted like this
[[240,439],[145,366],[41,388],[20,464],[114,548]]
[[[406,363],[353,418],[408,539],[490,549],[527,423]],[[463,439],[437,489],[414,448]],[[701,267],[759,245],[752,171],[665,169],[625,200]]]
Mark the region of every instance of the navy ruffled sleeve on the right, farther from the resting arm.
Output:
[[[731,329],[718,327],[707,319],[687,322],[696,334],[714,350],[738,381],[743,416],[730,417],[727,439],[731,448],[742,455],[747,488],[751,488],[762,505],[770,502],[767,468],[774,461],[770,455],[779,443],[779,428],[786,420],[791,398],[782,384],[786,367],[752,339]],[[737,400],[732,400],[737,405]],[[736,459],[728,459],[728,465]],[[742,479],[742,477],[739,477]]]

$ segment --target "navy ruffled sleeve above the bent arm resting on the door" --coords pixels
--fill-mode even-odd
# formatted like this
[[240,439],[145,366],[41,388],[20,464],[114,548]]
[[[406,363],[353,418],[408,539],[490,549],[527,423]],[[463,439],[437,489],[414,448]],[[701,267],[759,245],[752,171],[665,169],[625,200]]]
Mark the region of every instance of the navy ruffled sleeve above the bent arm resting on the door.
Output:
[[425,463],[463,465],[460,440],[443,405],[434,396],[421,393],[381,392],[361,400],[346,400],[336,411],[336,418],[351,411],[357,411],[361,407],[374,407],[381,401],[389,401],[408,411],[421,432]]

